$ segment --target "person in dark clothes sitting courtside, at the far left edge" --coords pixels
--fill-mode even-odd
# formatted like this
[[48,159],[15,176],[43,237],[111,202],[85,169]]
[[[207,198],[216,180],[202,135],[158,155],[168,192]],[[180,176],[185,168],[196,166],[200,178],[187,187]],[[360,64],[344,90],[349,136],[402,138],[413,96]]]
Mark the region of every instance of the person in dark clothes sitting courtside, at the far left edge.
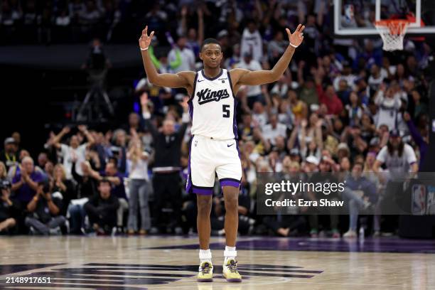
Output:
[[0,233],[6,232],[15,227],[17,217],[20,213],[18,201],[11,200],[11,183],[1,181],[0,183]]

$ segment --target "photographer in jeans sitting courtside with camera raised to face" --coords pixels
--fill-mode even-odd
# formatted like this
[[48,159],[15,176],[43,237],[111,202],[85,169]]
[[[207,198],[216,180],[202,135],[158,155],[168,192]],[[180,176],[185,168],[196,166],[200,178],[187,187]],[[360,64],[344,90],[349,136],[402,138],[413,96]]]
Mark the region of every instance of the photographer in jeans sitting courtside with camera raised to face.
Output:
[[60,233],[60,225],[65,224],[65,217],[60,215],[63,196],[59,192],[51,193],[50,183],[38,182],[36,195],[27,205],[30,213],[25,222],[31,227],[31,232],[49,235]]

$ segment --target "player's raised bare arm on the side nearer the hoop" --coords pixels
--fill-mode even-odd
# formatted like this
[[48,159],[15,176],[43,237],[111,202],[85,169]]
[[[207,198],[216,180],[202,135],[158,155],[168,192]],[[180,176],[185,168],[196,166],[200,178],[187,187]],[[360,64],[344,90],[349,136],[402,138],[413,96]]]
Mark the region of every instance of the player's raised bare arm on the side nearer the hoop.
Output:
[[235,68],[231,70],[231,77],[232,80],[234,80],[233,83],[235,85],[236,91],[237,87],[240,87],[240,85],[263,85],[269,82],[276,82],[289,66],[295,48],[298,47],[304,40],[304,33],[302,33],[304,28],[305,26],[299,24],[294,33],[290,33],[289,28],[286,28],[290,43],[272,70],[250,71],[241,68]]

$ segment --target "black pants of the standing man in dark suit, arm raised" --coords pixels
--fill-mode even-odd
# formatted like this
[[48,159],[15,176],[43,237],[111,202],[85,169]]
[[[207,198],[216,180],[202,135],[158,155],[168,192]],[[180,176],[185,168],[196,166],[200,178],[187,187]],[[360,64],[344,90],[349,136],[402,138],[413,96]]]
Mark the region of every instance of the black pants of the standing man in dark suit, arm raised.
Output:
[[[155,173],[154,225],[156,227],[178,227],[181,225],[181,177],[175,173]],[[172,213],[164,210],[171,209]],[[170,218],[169,218],[170,217]]]

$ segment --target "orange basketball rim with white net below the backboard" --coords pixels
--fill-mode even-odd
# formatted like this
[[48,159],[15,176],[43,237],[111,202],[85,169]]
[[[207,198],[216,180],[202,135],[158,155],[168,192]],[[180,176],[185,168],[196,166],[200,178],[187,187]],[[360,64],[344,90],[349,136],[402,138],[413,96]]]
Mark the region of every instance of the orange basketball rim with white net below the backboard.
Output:
[[383,50],[403,50],[403,38],[407,33],[409,21],[402,19],[388,19],[375,22],[377,32],[384,41]]

